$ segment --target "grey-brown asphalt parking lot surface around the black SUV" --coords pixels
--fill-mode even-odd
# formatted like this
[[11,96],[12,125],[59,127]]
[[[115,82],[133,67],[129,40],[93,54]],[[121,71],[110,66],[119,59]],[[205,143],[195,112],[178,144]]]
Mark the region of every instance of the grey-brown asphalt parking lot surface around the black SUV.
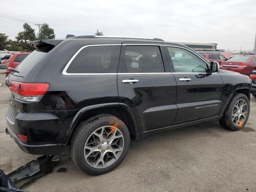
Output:
[[[10,91],[0,70],[0,169],[6,174],[35,160],[6,135]],[[256,191],[256,98],[240,131],[218,122],[187,126],[132,141],[124,161],[112,172],[89,176],[72,162],[69,150],[51,174],[26,186],[30,192],[64,191]],[[66,168],[66,172],[57,172]]]

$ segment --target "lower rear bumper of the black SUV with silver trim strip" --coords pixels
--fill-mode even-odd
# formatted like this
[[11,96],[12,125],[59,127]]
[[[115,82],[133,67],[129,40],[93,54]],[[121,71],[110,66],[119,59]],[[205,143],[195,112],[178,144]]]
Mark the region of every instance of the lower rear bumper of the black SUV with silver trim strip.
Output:
[[[13,120],[10,115],[10,108],[6,111],[6,133],[16,142],[16,144],[26,153],[29,154],[61,154],[65,148],[65,144],[31,144],[21,141],[17,135],[17,121]],[[28,136],[29,137],[29,136]]]

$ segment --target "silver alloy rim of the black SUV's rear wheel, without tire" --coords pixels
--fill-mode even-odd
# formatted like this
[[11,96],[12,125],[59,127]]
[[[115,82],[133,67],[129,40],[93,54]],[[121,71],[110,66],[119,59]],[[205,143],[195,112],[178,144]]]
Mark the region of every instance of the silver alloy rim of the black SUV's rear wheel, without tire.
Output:
[[124,136],[114,126],[96,129],[84,145],[84,158],[93,168],[106,168],[112,165],[124,149]]

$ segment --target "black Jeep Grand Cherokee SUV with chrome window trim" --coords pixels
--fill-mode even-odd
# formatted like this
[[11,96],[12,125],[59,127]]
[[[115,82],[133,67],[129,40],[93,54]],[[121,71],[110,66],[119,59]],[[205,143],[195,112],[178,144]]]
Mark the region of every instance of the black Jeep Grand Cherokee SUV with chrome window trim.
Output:
[[187,46],[104,36],[32,46],[6,80],[6,132],[30,154],[70,146],[85,173],[116,168],[130,139],[208,120],[240,130],[248,120],[249,77],[219,70]]

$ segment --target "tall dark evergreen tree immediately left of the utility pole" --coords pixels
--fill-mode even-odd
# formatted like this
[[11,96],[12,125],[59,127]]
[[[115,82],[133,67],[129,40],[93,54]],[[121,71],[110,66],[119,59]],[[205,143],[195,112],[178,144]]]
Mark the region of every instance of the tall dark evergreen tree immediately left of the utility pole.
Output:
[[30,42],[36,40],[35,30],[27,23],[24,23],[23,29],[24,31],[18,32],[18,35],[15,37],[17,43],[26,51],[33,50]]

